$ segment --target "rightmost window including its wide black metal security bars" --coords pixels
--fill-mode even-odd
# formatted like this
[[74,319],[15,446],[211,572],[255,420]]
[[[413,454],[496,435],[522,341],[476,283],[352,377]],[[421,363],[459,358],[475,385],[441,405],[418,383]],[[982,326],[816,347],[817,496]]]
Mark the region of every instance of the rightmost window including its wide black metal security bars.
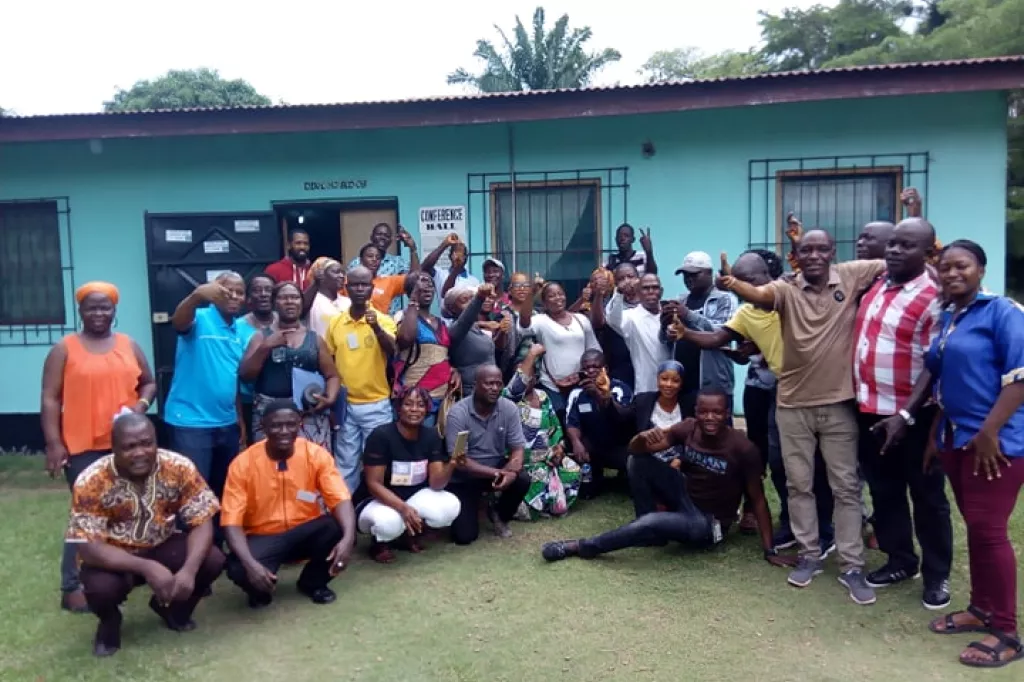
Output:
[[901,217],[904,187],[918,187],[928,201],[928,164],[926,153],[752,161],[750,248],[788,252],[785,217],[793,213],[805,230],[833,236],[837,261],[852,260],[866,223]]

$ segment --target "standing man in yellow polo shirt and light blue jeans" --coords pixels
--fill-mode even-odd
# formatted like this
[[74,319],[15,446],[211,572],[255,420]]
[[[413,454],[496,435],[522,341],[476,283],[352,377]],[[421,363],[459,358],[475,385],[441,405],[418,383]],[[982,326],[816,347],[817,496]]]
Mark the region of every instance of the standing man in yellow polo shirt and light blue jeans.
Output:
[[348,272],[352,305],[328,327],[325,342],[334,357],[341,384],[348,389],[345,421],[335,440],[334,459],[350,491],[359,487],[360,459],[370,433],[393,421],[388,359],[394,354],[397,327],[370,303],[373,273],[366,267]]

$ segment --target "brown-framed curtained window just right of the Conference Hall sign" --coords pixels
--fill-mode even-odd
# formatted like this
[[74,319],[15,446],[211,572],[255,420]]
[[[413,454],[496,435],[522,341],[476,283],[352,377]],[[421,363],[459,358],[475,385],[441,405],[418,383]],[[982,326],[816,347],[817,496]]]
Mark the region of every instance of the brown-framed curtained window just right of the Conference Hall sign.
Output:
[[514,199],[510,184],[495,183],[490,196],[498,258],[511,263],[514,248],[520,271],[575,296],[601,257],[600,181],[517,183]]

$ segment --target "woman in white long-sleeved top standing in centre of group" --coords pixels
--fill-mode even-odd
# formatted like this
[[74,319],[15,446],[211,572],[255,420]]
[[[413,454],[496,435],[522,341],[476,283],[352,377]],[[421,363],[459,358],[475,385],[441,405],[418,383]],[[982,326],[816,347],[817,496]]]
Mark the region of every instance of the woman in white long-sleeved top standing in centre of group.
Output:
[[565,419],[565,396],[580,381],[580,357],[584,351],[600,350],[590,319],[566,307],[565,290],[557,282],[541,289],[544,312],[534,314],[532,301],[519,306],[519,329],[545,348],[541,360],[540,388],[551,398],[558,419]]

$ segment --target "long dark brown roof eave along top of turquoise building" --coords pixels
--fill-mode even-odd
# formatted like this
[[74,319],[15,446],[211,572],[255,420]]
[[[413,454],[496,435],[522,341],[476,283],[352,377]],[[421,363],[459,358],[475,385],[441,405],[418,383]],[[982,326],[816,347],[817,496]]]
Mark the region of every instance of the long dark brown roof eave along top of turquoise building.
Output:
[[520,96],[0,118],[0,142],[520,123],[1015,88],[1024,88],[1022,60],[913,65]]

